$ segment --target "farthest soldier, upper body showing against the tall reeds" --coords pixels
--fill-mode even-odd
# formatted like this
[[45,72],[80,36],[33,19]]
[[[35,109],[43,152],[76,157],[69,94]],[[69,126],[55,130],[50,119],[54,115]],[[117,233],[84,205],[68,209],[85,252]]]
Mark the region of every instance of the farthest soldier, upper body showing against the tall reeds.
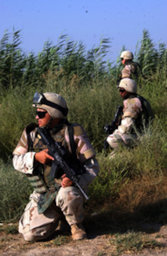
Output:
[[120,59],[124,68],[121,71],[120,79],[128,77],[136,82],[141,75],[140,66],[133,61],[133,53],[130,51],[123,51],[120,55]]

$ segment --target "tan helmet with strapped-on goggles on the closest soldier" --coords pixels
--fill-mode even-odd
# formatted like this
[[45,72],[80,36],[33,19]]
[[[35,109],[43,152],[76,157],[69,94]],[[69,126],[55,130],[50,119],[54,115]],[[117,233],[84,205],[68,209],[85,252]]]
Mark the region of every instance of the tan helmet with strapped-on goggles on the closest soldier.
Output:
[[46,110],[52,118],[62,119],[68,114],[65,99],[52,92],[45,92],[44,94],[36,92],[32,106]]

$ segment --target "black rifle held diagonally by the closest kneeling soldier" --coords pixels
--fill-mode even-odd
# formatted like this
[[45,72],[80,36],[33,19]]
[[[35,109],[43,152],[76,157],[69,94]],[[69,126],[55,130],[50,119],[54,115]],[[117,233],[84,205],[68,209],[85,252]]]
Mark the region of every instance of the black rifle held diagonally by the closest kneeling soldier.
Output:
[[76,178],[76,172],[73,170],[73,168],[69,165],[68,161],[65,159],[67,154],[67,150],[59,145],[57,141],[55,141],[52,136],[50,135],[49,131],[46,128],[38,128],[37,133],[41,135],[41,138],[44,142],[44,144],[49,149],[49,154],[54,157],[54,161],[52,162],[52,167],[50,171],[50,175],[55,178],[55,173],[57,169],[57,165],[61,167],[61,169],[66,174],[66,177],[68,177],[72,182],[78,187],[78,189],[81,191],[81,193],[84,195],[86,200],[89,199],[85,191],[81,188],[81,186],[78,183],[78,180]]

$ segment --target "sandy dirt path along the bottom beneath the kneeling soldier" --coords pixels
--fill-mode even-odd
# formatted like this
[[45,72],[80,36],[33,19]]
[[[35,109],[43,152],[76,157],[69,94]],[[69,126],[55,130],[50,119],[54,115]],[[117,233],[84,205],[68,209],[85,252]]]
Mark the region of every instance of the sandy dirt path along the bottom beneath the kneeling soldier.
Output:
[[155,248],[152,249],[151,246],[148,246],[148,248],[144,248],[138,253],[133,253],[133,251],[119,253],[116,249],[116,244],[111,243],[111,240],[115,238],[115,235],[99,234],[98,232],[96,234],[88,233],[88,239],[75,242],[71,240],[69,235],[63,236],[66,239],[66,242],[61,244],[62,241],[60,240],[59,242],[61,245],[58,245],[58,242],[55,244],[54,240],[29,243],[24,241],[20,234],[11,235],[1,232],[0,255],[167,255],[167,225],[154,225],[152,227],[145,225],[145,229],[148,228],[153,230],[152,233],[149,234],[149,238],[163,244],[161,248],[155,246]]

